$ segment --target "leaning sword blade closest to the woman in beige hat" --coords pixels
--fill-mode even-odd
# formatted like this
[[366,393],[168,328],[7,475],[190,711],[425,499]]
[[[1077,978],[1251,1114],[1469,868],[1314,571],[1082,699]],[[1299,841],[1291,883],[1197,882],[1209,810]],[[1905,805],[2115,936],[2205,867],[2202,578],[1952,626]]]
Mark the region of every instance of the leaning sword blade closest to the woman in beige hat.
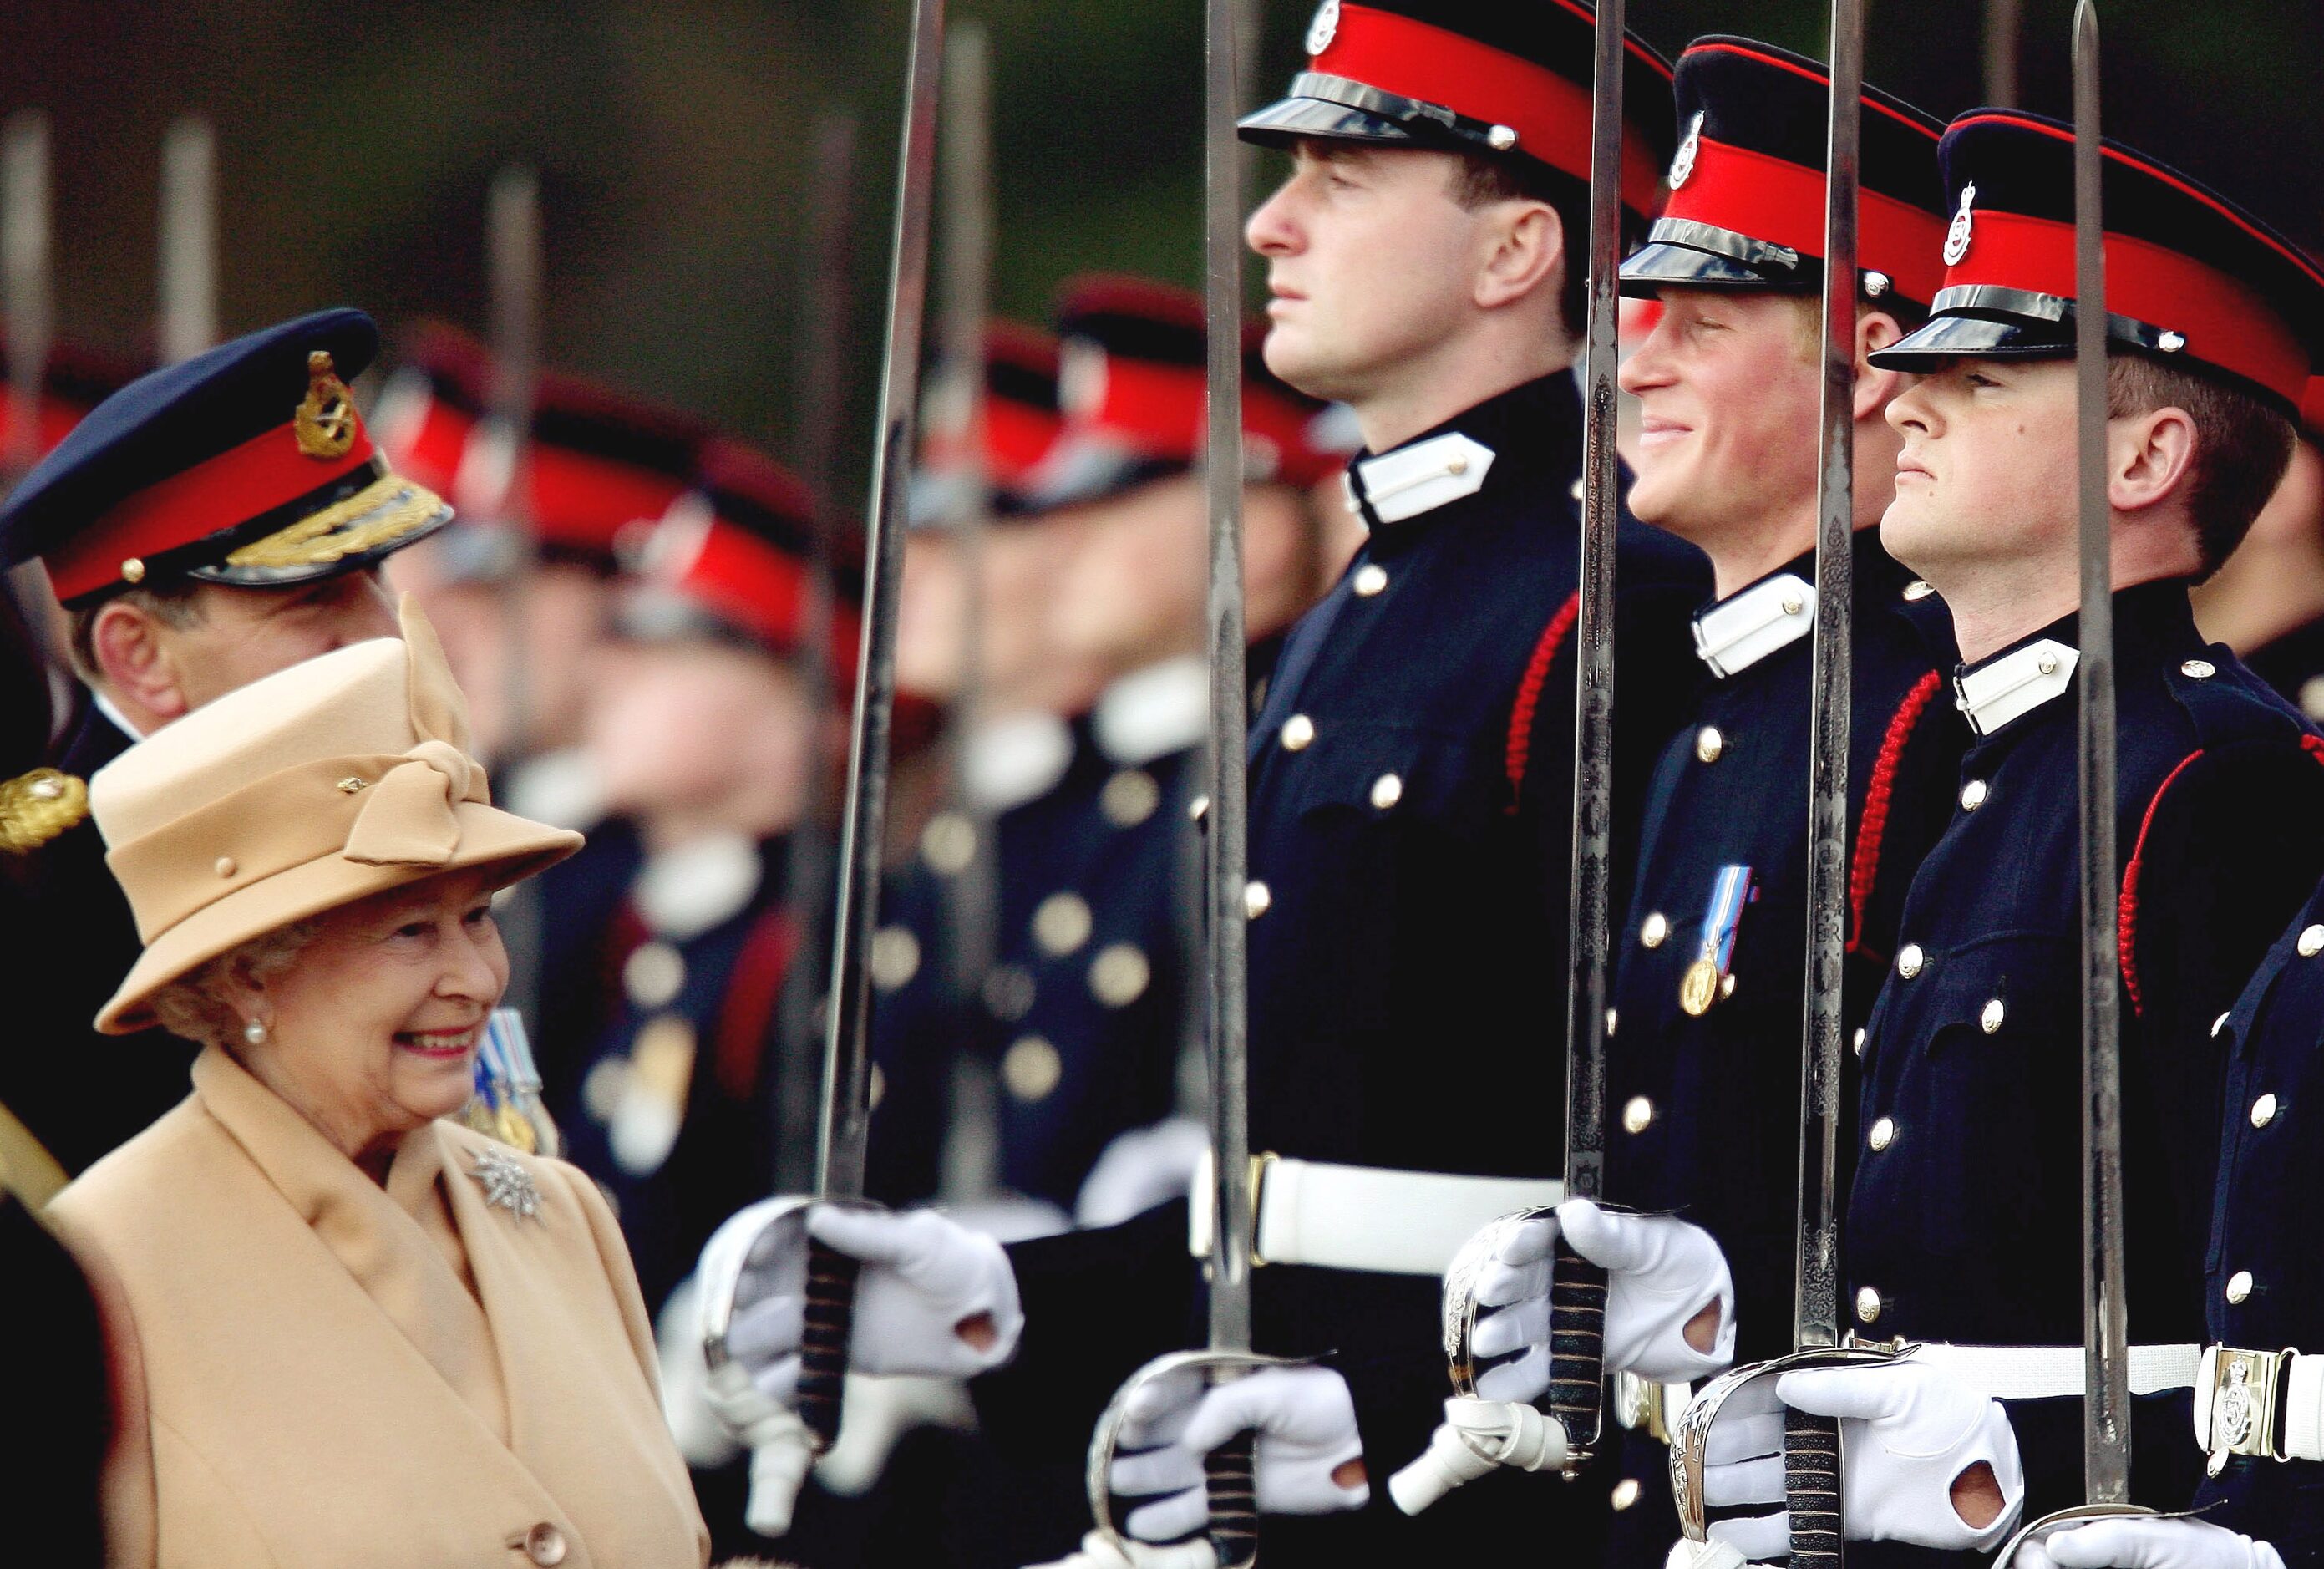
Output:
[[[865,618],[848,737],[848,797],[839,823],[832,909],[832,1002],[823,1037],[816,1190],[865,1190],[871,1127],[871,927],[878,918],[881,839],[888,823],[888,735],[895,721],[895,614],[904,567],[911,439],[920,395],[920,314],[927,307],[927,228],[937,177],[937,95],[944,70],[944,0],[913,0],[904,132],[897,158],[895,251],[888,272],[888,349],[881,360],[878,437],[865,514]],[[806,411],[813,418],[813,411]],[[841,1341],[844,1346],[844,1341]]]

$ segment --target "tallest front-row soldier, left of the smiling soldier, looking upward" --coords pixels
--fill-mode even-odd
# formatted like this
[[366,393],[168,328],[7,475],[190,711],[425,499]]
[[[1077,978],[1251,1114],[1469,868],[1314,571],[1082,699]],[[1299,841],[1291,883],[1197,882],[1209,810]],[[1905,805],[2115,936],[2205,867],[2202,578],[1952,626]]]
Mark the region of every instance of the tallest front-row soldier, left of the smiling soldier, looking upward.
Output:
[[[1271,1516],[1362,1509],[1367,1467],[1427,1441],[1443,1406],[1436,1274],[1555,1172],[1592,42],[1592,14],[1566,2],[1334,0],[1292,95],[1243,123],[1294,158],[1248,225],[1274,295],[1264,358],[1355,411],[1348,493],[1369,528],[1292,630],[1250,730],[1253,1146],[1306,1162],[1304,1192],[1350,1216],[1255,1276],[1255,1344],[1329,1360],[1236,1385],[1257,1402],[1236,1425],[1262,1427]],[[1671,146],[1669,70],[1631,44],[1627,74],[1624,195],[1643,216]],[[1685,616],[1706,590],[1690,546],[1631,528],[1622,553],[1618,839],[1694,681]],[[1383,1209],[1399,1223],[1378,1225]],[[974,1390],[999,1441],[1078,1448],[1125,1374],[1190,1341],[1183,1204],[1006,1255],[930,1213],[818,1211],[811,1230],[876,1255],[867,1299],[904,1290],[927,1297],[925,1323],[971,1325],[967,1339],[878,1334],[862,1313],[860,1371],[995,1369],[1032,1325],[1016,1367]],[[753,1234],[753,1216],[727,1232]],[[739,1323],[769,1332],[727,1337],[772,1397],[797,1367],[779,1306],[744,1302]],[[1195,1462],[1167,1448],[1150,1474],[1181,1460]],[[1132,1529],[1199,1523],[1199,1485],[1178,1488]],[[1276,1564],[1450,1562],[1543,1529],[1557,1497],[1548,1481],[1492,1492],[1406,1523],[1380,1488],[1362,1518],[1271,1520],[1267,1550]],[[1552,1529],[1590,1550],[1604,1497],[1559,1506]]]

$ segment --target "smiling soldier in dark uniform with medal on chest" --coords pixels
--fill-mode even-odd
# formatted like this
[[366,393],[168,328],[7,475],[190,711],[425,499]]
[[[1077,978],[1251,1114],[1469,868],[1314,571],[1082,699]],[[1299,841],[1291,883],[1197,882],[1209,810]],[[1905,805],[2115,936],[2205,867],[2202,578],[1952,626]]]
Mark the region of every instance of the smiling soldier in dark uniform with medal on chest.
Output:
[[[1641,409],[1631,511],[1699,544],[1717,581],[1717,600],[1694,614],[1710,681],[1655,769],[1615,944],[1606,1195],[1641,1213],[1587,1199],[1566,1211],[1576,1248],[1618,1276],[1608,1367],[1631,1374],[1618,1385],[1627,1399],[1613,1402],[1631,1427],[1615,1483],[1622,1562],[1659,1562],[1678,1536],[1664,1443],[1685,1390],[1659,1383],[1789,1351],[1808,974],[1829,77],[1769,44],[1706,37],[1678,58],[1676,88],[1685,139],[1671,202],[1622,263],[1624,293],[1662,309],[1622,363],[1622,386]],[[1882,414],[1910,377],[1866,363],[1920,325],[1945,277],[1941,132],[1941,121],[1866,88],[1850,1027],[1871,1013],[1903,888],[1952,814],[1966,741],[1941,697],[1952,644],[1943,607],[1878,535],[1903,444]],[[1529,1402],[1548,1388],[1543,1262],[1557,1225],[1520,1227],[1478,1281],[1480,1302],[1511,1311],[1478,1325],[1476,1351],[1525,1353],[1483,1376],[1485,1399]]]

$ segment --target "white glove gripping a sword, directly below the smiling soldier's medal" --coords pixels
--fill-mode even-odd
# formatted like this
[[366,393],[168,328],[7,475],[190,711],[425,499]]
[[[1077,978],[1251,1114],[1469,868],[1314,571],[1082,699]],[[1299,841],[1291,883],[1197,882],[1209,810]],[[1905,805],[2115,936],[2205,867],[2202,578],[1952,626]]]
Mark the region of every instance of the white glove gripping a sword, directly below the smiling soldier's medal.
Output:
[[[1469,1348],[1515,1362],[1485,1369],[1485,1399],[1534,1402],[1550,1388],[1550,1258],[1559,1227],[1573,1251],[1606,1271],[1606,1371],[1652,1383],[1692,1383],[1734,1362],[1734,1276],[1727,1255],[1699,1225],[1673,1216],[1622,1216],[1590,1199],[1566,1199],[1557,1218],[1527,1220],[1478,1271],[1478,1318]],[[1687,1320],[1710,1304],[1720,1327],[1710,1351],[1687,1344]]]

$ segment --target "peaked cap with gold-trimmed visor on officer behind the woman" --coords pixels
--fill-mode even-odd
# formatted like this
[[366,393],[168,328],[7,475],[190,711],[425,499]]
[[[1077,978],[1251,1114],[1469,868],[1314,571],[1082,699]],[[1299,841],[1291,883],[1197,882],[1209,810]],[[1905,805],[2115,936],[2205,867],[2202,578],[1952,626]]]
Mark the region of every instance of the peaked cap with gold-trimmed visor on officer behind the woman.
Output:
[[363,311],[300,316],[100,402],[0,507],[0,560],[40,558],[84,607],[132,583],[288,588],[367,567],[451,521],[372,444],[346,381]]

